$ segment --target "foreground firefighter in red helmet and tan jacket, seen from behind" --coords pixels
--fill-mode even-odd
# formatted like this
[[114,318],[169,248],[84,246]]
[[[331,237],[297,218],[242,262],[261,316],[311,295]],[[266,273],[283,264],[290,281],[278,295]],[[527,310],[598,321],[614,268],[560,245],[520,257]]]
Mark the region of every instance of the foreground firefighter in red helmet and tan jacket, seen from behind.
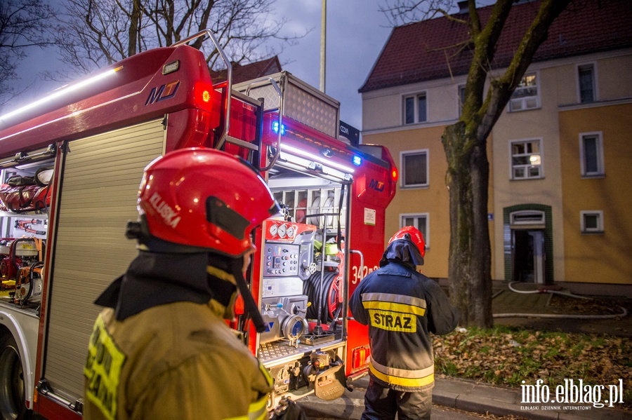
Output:
[[181,149],[147,165],[138,211],[138,255],[95,302],[84,419],[267,419],[270,374],[225,320],[239,291],[259,316],[244,273],[270,189],[236,156]]

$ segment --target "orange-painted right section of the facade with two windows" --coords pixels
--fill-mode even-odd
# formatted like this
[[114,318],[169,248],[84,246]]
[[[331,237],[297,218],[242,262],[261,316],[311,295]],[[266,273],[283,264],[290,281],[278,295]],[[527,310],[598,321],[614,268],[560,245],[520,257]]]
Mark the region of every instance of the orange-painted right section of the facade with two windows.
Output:
[[565,280],[631,284],[632,104],[560,111],[562,155],[579,156],[586,138],[602,142],[603,174],[562,159]]

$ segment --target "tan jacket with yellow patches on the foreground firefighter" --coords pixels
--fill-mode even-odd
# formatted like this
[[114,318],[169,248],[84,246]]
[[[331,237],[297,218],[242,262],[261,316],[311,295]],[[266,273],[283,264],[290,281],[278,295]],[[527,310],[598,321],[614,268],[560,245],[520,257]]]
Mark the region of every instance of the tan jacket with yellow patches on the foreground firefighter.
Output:
[[105,294],[105,301],[117,299],[100,297],[110,307],[98,316],[88,345],[84,419],[267,419],[272,379],[226,325],[225,305],[169,302],[117,319],[114,307],[124,300],[117,287],[126,290],[126,283],[159,273],[159,260],[136,259]]

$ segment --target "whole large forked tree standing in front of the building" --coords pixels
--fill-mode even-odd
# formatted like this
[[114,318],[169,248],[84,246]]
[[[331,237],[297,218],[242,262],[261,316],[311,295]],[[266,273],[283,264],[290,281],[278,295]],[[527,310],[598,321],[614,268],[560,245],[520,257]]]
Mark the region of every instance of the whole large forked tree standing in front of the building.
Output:
[[[515,0],[497,0],[487,22],[482,22],[475,0],[468,0],[467,18],[458,20],[447,13],[446,0],[385,0],[381,11],[391,22],[426,18],[437,13],[468,25],[472,61],[467,74],[465,100],[459,121],[447,126],[441,141],[447,158],[446,185],[449,189],[450,246],[448,278],[451,298],[461,309],[461,323],[491,327],[492,257],[487,222],[489,161],[487,137],[503,108],[520,83],[536,50],[546,40],[553,20],[570,0],[541,0],[536,17],[522,35],[515,54],[502,74],[494,69],[494,53]],[[463,17],[463,15],[459,15]],[[448,63],[449,65],[449,63]],[[487,90],[486,82],[489,83]]]

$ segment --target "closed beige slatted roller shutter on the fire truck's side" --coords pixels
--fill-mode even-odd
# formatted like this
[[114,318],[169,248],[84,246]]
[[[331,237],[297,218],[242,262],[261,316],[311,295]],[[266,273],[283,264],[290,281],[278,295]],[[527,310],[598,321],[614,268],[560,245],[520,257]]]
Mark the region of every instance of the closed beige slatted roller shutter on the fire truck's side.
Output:
[[162,120],[67,143],[52,265],[44,378],[61,398],[83,395],[88,339],[100,306],[93,304],[136,256],[125,237],[138,219],[136,197],[147,163],[161,155]]

